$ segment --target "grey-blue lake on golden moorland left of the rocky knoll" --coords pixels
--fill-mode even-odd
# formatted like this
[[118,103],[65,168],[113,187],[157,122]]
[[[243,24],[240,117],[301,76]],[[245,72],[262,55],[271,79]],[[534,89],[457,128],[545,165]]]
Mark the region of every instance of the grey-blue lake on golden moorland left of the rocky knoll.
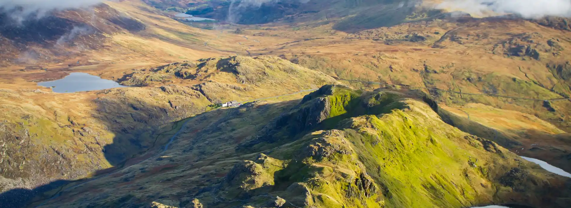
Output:
[[87,73],[73,72],[63,79],[53,81],[42,81],[38,85],[43,87],[54,87],[51,90],[58,93],[70,93],[81,91],[92,91],[109,89],[116,87],[127,87],[112,80],[101,79],[99,76]]

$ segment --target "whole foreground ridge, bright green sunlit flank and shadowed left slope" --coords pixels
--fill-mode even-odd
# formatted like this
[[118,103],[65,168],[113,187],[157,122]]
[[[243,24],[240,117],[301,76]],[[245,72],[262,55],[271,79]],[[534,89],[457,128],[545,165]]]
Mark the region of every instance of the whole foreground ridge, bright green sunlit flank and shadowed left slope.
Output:
[[435,109],[419,91],[325,85],[297,101],[203,113],[160,157],[43,207],[566,207],[568,178]]

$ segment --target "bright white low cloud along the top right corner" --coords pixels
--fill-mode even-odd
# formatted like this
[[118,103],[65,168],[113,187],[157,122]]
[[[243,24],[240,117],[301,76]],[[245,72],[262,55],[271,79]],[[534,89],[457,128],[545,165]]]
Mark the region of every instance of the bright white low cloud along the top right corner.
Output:
[[571,17],[569,0],[445,0],[434,7],[464,11],[477,17],[505,14],[517,14],[524,18]]

